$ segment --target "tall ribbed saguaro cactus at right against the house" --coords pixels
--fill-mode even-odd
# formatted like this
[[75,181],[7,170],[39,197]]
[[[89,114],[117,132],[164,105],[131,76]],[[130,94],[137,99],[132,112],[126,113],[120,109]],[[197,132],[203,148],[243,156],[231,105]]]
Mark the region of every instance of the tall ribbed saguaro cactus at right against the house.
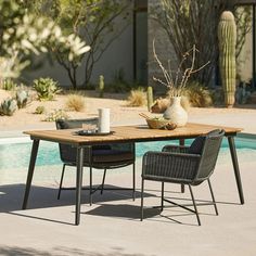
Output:
[[222,12],[218,25],[219,68],[228,107],[234,104],[236,25],[232,12]]

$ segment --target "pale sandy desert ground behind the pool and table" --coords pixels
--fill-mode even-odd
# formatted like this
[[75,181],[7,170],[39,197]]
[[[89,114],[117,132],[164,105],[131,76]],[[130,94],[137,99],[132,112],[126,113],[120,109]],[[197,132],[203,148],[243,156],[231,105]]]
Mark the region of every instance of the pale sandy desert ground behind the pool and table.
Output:
[[[10,93],[0,90],[0,102]],[[0,116],[1,137],[11,137],[22,135],[26,129],[54,129],[55,125],[52,121],[43,121],[47,114],[54,110],[66,110],[69,118],[87,118],[98,115],[98,108],[111,108],[112,125],[128,125],[128,124],[145,124],[144,119],[139,116],[139,113],[150,114],[146,106],[130,107],[127,106],[127,94],[105,94],[104,99],[97,97],[93,91],[86,92],[86,107],[82,112],[71,112],[66,110],[66,95],[56,95],[54,101],[39,102],[34,100],[26,108],[18,110],[13,116]],[[34,99],[36,97],[34,95]],[[47,114],[33,114],[38,105],[43,105]],[[243,128],[243,132],[256,133],[256,105],[236,106],[233,108],[226,107],[190,107],[189,121],[202,123],[212,125],[233,126]]]

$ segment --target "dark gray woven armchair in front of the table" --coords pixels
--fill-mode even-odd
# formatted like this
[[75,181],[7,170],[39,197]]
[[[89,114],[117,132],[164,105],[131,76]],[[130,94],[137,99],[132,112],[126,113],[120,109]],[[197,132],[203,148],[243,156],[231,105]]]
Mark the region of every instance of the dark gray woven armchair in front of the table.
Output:
[[[161,210],[164,208],[164,202],[181,206],[196,215],[199,226],[201,226],[201,221],[192,185],[199,185],[207,180],[213,199],[213,203],[207,204],[213,204],[216,215],[218,215],[209,177],[215,169],[223,135],[223,130],[214,130],[206,136],[197,137],[190,146],[166,145],[162,152],[146,152],[144,154],[141,176],[141,220],[143,220],[144,180],[162,182]],[[188,184],[194,209],[165,199],[165,182]]]

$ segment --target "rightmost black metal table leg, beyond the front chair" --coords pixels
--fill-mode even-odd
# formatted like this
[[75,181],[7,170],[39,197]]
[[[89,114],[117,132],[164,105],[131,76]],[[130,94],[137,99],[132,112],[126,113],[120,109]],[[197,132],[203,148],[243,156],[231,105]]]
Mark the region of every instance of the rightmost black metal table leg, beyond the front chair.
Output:
[[238,185],[238,190],[239,190],[240,202],[241,202],[241,204],[244,204],[243,188],[242,188],[242,181],[241,181],[241,176],[240,176],[236,150],[235,150],[235,145],[234,145],[234,138],[228,137],[228,141],[229,141],[229,150],[230,150],[232,163],[233,163],[235,181],[236,181],[236,185]]

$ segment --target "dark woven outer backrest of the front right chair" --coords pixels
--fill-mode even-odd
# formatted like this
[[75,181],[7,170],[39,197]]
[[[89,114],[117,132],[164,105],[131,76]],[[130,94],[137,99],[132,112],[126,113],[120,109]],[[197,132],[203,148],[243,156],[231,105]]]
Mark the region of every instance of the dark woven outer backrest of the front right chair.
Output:
[[194,183],[201,183],[204,180],[208,179],[213,174],[216,162],[218,158],[219,150],[221,146],[221,141],[225,136],[225,131],[217,129],[213,130],[206,136],[201,137],[202,142],[202,152],[201,161],[197,169],[197,174],[194,179]]

